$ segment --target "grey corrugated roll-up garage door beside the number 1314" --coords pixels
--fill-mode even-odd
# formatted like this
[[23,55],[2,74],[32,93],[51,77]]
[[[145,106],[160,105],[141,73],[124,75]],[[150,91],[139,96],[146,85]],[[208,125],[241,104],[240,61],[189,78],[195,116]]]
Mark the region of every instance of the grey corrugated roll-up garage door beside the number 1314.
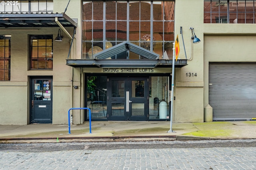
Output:
[[209,63],[213,120],[256,119],[256,63]]

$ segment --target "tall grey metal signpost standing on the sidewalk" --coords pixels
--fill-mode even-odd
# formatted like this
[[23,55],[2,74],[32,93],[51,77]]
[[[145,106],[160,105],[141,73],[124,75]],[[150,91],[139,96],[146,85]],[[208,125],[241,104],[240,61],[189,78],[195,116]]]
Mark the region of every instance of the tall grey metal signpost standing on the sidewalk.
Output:
[[173,42],[173,54],[172,54],[172,96],[171,96],[171,116],[170,116],[170,130],[168,133],[173,133],[172,131],[172,112],[173,112],[173,91],[174,91],[174,64],[175,64],[175,41]]

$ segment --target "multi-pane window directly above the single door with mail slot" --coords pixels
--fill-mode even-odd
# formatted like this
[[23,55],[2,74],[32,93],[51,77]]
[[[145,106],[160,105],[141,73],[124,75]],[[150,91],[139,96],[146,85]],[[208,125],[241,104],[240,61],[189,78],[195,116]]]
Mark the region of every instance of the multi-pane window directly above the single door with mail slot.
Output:
[[52,35],[30,35],[30,69],[52,70]]

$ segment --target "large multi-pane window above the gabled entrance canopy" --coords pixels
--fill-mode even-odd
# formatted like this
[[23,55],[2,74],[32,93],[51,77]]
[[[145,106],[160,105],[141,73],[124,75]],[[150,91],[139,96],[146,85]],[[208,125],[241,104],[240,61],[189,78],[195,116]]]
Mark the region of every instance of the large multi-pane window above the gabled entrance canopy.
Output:
[[[172,57],[174,1],[83,1],[82,8],[84,59],[124,41]],[[128,58],[140,56],[130,52]]]

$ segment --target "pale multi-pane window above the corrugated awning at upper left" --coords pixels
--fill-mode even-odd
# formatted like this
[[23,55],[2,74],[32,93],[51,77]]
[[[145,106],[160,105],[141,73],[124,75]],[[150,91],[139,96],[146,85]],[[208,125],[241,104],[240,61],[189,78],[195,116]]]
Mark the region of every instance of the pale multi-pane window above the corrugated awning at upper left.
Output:
[[0,12],[4,13],[51,13],[53,0],[1,1]]

